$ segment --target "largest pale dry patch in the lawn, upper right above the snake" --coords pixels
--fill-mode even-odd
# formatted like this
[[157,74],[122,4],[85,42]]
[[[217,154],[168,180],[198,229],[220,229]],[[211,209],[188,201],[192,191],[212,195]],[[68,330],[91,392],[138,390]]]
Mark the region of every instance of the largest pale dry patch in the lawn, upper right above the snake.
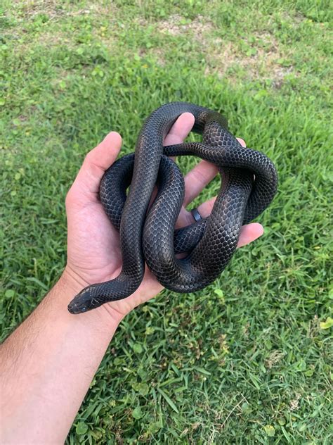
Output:
[[[148,26],[148,21],[144,18],[137,20],[141,27]],[[167,20],[159,20],[156,23],[156,30],[164,35],[174,37],[186,37],[190,39],[194,47],[202,52],[206,63],[206,74],[217,75],[219,78],[228,76],[231,82],[237,80],[235,71],[242,70],[241,77],[247,80],[270,79],[273,80],[275,88],[282,87],[285,76],[291,73],[297,75],[294,66],[283,66],[281,61],[292,58],[292,51],[286,54],[280,48],[278,40],[269,32],[254,33],[255,42],[249,43],[246,40],[230,42],[216,37],[216,26],[203,15],[197,15],[195,20],[185,20],[181,15],[171,15]],[[242,43],[246,44],[253,51],[246,54],[242,51]],[[158,51],[158,52],[157,52]],[[149,54],[150,51],[143,50],[142,54]],[[155,54],[165,64],[164,49],[154,49]]]

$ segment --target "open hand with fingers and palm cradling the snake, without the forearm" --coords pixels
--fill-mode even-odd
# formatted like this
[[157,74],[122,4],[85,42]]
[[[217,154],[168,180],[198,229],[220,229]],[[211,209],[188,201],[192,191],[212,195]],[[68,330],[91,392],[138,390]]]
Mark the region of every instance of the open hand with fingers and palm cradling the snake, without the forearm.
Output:
[[[171,127],[164,145],[181,144],[188,136],[193,123],[193,115],[183,113]],[[245,146],[242,139],[238,140]],[[121,146],[122,138],[117,132],[107,134],[103,142],[86,155],[66,197],[68,246],[64,275],[67,282],[70,280],[71,287],[76,293],[89,284],[112,280],[122,269],[119,233],[107,218],[98,193],[100,180],[105,170],[115,162]],[[185,199],[176,227],[194,222],[192,214],[186,211],[185,207],[200,194],[217,173],[215,165],[200,161],[185,176]],[[211,212],[214,200],[215,198],[210,199],[198,207],[203,218]],[[249,244],[261,234],[263,227],[259,223],[244,225],[240,232],[238,247]],[[143,282],[134,294],[124,300],[107,303],[101,308],[107,310],[112,317],[121,320],[131,309],[148,301],[162,289],[162,285],[146,268]]]

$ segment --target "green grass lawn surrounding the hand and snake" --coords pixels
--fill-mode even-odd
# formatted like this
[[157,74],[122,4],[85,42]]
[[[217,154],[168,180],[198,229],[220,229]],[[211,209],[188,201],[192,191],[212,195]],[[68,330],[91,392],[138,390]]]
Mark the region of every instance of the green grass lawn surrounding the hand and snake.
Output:
[[66,191],[110,130],[130,152],[148,113],[192,101],[280,175],[219,280],[122,322],[67,444],[332,443],[329,1],[3,0],[0,25],[1,338],[63,270]]

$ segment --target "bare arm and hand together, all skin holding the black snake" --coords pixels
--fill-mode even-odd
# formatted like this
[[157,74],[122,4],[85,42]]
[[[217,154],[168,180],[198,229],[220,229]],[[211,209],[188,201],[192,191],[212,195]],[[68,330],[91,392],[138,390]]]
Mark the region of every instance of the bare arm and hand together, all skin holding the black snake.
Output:
[[[183,142],[193,123],[190,113],[181,115],[164,145]],[[111,132],[86,155],[66,197],[65,270],[34,312],[0,346],[1,444],[63,443],[119,322],[163,289],[146,270],[141,286],[127,299],[79,315],[67,311],[67,304],[83,287],[116,277],[122,267],[119,234],[98,198],[100,180],[121,144],[120,135]],[[201,161],[185,176],[185,200],[177,227],[193,222],[185,207],[216,173],[214,165]],[[209,215],[213,203],[211,199],[198,207],[203,217]],[[263,227],[258,223],[242,227],[238,246],[261,234]]]

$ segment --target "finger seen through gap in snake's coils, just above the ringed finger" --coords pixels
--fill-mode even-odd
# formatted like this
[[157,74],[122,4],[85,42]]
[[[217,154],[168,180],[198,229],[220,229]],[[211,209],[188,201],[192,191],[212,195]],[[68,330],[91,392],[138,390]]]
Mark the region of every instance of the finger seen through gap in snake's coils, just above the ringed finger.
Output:
[[218,174],[216,165],[207,161],[200,161],[192,170],[185,175],[185,197],[184,206],[186,207],[195,199],[204,187],[214,179]]

